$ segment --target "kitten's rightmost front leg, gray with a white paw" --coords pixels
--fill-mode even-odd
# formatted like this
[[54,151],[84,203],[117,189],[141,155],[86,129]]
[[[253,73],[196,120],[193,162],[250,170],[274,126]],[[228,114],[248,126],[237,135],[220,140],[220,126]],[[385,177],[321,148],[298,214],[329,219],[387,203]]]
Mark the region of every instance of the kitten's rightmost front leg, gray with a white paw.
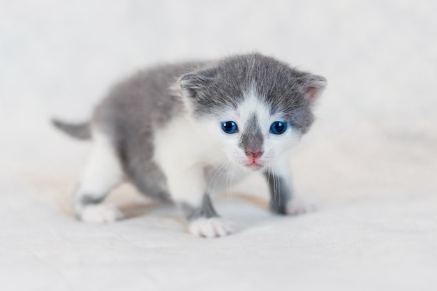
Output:
[[297,215],[313,210],[313,206],[298,200],[291,186],[288,160],[283,159],[264,172],[269,184],[270,210],[276,214]]

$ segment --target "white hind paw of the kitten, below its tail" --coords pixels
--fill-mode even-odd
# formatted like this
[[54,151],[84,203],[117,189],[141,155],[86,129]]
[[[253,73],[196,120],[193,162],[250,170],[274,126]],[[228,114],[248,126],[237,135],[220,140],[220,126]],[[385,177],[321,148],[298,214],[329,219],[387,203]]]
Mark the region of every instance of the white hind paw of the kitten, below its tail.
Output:
[[123,213],[114,205],[88,205],[80,214],[80,219],[89,223],[113,223],[122,218]]

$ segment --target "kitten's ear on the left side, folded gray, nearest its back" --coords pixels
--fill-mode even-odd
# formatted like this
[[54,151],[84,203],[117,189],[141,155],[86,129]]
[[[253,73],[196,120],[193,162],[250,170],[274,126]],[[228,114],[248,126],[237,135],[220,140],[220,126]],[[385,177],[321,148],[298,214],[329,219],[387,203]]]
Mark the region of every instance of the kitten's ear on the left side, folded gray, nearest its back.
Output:
[[214,84],[216,75],[217,72],[214,68],[183,75],[179,80],[179,84],[184,96],[188,98],[202,98],[202,92]]

